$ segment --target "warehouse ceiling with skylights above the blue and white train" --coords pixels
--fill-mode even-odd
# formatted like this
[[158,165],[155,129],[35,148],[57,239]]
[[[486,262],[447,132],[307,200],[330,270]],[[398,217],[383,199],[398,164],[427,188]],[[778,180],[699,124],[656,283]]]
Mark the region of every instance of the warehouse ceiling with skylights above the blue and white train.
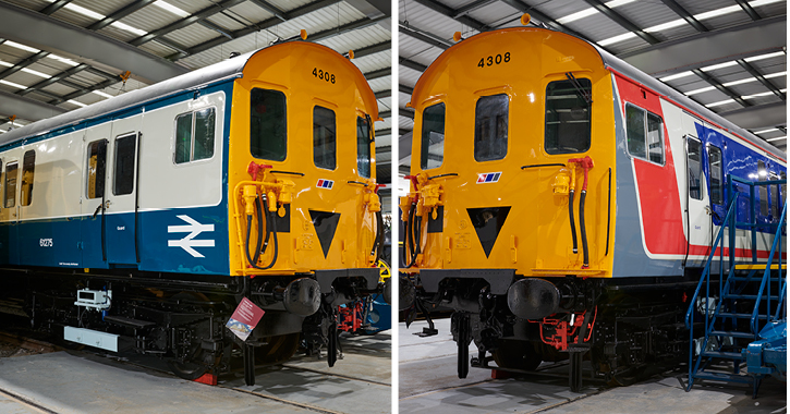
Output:
[[354,50],[378,98],[377,172],[389,182],[390,9],[390,0],[0,0],[0,132],[305,29],[311,41]]

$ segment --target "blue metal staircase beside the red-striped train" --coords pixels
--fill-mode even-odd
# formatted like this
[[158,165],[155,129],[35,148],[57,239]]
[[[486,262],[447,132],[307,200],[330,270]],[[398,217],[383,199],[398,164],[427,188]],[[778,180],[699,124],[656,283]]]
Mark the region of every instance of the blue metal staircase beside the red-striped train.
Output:
[[[741,187],[749,186],[749,192],[737,192],[736,183],[743,184]],[[685,314],[685,326],[691,338],[686,391],[698,380],[726,381],[751,385],[752,397],[756,398],[763,377],[777,374],[783,378],[786,375],[786,364],[777,365],[771,361],[777,362],[787,353],[787,284],[783,277],[787,264],[782,258],[786,251],[782,247],[782,233],[787,202],[781,218],[765,223],[757,220],[754,197],[755,186],[764,185],[765,193],[768,193],[768,186],[785,183],[786,180],[751,182],[733,175],[727,176],[730,195],[727,214]],[[779,188],[775,194],[779,194]],[[743,203],[745,200],[742,198],[746,197],[748,203]],[[739,208],[741,214],[737,211]],[[748,211],[744,211],[746,208]],[[749,221],[738,221],[738,216],[745,216]],[[751,232],[751,263],[744,263],[743,258],[740,261],[736,259],[736,248],[732,247],[736,247],[737,229]],[[757,261],[757,230],[775,235],[767,261]],[[725,238],[728,240],[727,245]],[[725,249],[729,249],[727,259]],[[718,261],[714,260],[716,256]],[[718,278],[715,278],[716,272]],[[700,328],[704,336],[700,336]],[[766,334],[770,337],[766,339]],[[748,363],[745,372],[741,369],[744,363]],[[780,372],[782,369],[785,372]]]

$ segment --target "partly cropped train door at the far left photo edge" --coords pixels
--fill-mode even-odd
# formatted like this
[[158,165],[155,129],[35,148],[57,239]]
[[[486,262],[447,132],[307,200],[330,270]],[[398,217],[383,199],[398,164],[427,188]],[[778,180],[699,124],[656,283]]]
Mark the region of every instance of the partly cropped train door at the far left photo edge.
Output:
[[20,179],[20,160],[19,157],[9,156],[3,160],[2,175],[2,219],[3,223],[0,231],[0,254],[2,254],[2,263],[19,264],[19,207],[16,205],[17,183]]

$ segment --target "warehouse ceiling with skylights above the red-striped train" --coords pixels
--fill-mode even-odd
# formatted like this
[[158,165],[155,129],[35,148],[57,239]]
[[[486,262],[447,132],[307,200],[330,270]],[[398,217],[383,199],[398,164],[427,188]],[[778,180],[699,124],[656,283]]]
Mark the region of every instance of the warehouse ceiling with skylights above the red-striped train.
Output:
[[399,0],[400,170],[420,75],[479,32],[546,25],[598,45],[778,148],[787,147],[785,0]]

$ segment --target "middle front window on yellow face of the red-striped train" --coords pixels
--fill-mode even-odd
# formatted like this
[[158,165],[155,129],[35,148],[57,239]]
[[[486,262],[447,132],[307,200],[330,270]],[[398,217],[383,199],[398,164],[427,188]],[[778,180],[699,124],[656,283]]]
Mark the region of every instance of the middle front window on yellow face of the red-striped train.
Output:
[[483,96],[475,107],[475,160],[493,161],[508,154],[507,94]]

